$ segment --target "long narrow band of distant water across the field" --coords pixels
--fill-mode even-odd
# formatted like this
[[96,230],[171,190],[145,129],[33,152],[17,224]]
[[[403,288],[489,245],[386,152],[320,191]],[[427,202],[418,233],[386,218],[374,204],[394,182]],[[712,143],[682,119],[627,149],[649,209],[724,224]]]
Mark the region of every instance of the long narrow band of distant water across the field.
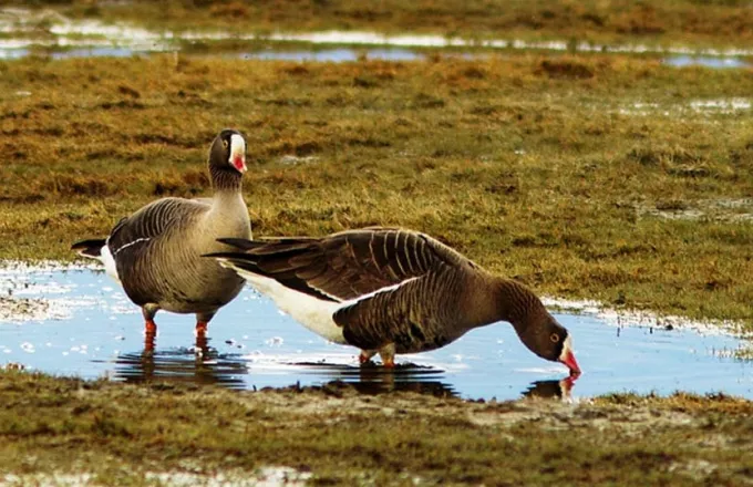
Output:
[[[753,49],[691,49],[650,44],[597,44],[567,40],[465,39],[434,34],[382,34],[368,31],[231,33],[220,31],[153,31],[97,20],[73,20],[53,10],[0,9],[0,59],[33,53],[55,59],[128,56],[151,52],[180,51],[187,45],[234,41],[267,44],[266,50],[241,53],[247,59],[313,62],[347,62],[362,59],[409,61],[431,51],[450,50],[463,56],[486,56],[499,51],[549,51],[581,53],[658,54],[672,66],[750,68],[744,56]],[[44,35],[40,35],[44,34]],[[303,45],[303,49],[296,49]],[[350,48],[341,48],[348,45]],[[292,48],[291,48],[292,46]],[[329,48],[337,46],[337,48]],[[41,51],[40,51],[41,50]],[[364,52],[365,50],[365,52]],[[460,52],[465,50],[466,52]],[[213,51],[215,52],[215,51]],[[218,55],[225,55],[221,50]]]

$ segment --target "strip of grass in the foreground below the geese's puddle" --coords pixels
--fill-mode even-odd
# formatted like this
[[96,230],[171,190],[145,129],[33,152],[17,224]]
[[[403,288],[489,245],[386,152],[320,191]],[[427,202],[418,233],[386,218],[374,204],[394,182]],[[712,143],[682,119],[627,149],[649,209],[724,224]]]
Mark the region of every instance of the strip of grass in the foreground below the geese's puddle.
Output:
[[237,393],[0,372],[0,402],[2,472],[103,484],[270,465],[311,472],[314,485],[740,485],[751,475],[751,403],[723,396],[485,404],[337,383]]

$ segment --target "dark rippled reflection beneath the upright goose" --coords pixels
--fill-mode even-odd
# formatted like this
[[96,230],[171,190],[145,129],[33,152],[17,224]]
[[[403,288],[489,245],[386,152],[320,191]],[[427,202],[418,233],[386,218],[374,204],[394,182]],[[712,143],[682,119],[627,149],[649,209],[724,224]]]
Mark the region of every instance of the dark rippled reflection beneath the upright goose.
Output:
[[208,344],[209,339],[196,340],[195,348],[169,350],[149,346],[147,336],[144,350],[123,353],[115,359],[114,379],[123,382],[182,382],[217,384],[228,388],[246,388],[243,376],[248,374],[246,361],[220,355]]

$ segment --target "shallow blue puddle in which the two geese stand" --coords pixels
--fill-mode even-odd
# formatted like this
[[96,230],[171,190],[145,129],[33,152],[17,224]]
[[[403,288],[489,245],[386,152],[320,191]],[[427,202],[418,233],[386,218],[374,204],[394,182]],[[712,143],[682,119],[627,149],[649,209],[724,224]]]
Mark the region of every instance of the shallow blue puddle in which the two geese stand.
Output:
[[[103,273],[0,272],[0,296],[9,293],[11,299],[45,301],[48,307],[25,321],[11,320],[7,312],[0,318],[0,363],[18,362],[53,374],[221,383],[236,388],[339,380],[363,392],[400,388],[487,398],[515,398],[525,391],[551,395],[559,388],[557,381],[566,376],[564,365],[528,352],[507,324],[475,330],[431,353],[400,355],[403,365],[390,373],[381,367],[359,369],[358,350],[326,342],[250,289],[217,313],[209,324],[208,346],[202,350],[194,346],[192,315],[158,313],[153,353],[144,352],[137,308]],[[557,318],[573,333],[585,371],[574,396],[682,390],[753,397],[751,363],[730,356],[740,344],[735,339],[617,328],[589,315]]]

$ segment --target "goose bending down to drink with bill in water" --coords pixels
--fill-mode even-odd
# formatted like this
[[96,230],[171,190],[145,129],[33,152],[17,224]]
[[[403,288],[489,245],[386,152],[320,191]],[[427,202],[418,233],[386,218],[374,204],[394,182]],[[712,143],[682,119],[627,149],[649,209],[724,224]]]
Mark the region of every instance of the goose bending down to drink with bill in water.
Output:
[[376,352],[439,349],[465,332],[508,321],[538,356],[579,375],[567,330],[525,286],[491,274],[452,248],[411,230],[367,228],[322,238],[223,238],[243,251],[216,252],[310,330]]

